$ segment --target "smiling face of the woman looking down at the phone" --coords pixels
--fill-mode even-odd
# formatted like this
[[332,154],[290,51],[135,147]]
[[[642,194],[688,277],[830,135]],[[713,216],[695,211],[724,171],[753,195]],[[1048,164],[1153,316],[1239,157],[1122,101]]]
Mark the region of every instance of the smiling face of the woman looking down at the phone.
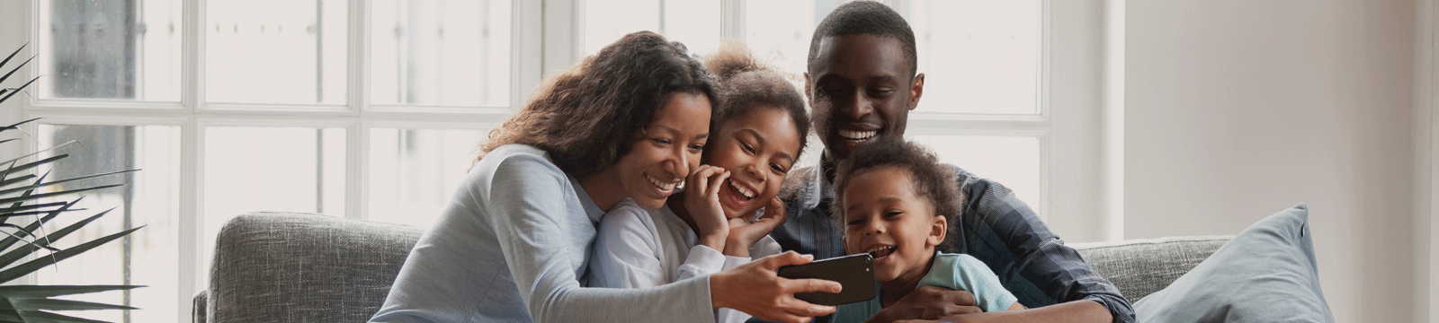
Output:
[[655,113],[629,154],[614,165],[620,189],[646,210],[665,205],[691,171],[709,136],[709,99],[675,92]]

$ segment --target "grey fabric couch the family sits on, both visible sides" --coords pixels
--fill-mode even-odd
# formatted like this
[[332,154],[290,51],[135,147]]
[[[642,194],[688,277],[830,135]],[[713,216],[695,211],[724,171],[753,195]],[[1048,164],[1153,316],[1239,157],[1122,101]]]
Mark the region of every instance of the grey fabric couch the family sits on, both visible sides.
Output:
[[[252,212],[216,238],[194,322],[364,322],[422,228],[315,214]],[[1158,291],[1230,237],[1075,244],[1130,300]]]

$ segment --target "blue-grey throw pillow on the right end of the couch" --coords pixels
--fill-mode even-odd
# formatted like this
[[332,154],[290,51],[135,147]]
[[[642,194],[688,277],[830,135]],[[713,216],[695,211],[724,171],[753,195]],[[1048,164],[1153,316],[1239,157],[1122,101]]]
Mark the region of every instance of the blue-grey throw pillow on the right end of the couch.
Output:
[[1138,322],[1334,322],[1320,290],[1304,204],[1255,223],[1164,290]]

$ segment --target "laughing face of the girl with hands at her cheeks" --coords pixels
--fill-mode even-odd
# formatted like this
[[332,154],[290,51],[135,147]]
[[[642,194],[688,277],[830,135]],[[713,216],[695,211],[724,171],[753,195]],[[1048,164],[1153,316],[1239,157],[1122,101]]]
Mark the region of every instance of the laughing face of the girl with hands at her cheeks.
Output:
[[776,106],[753,106],[717,132],[707,164],[730,171],[730,179],[720,184],[720,205],[727,218],[754,217],[780,192],[800,154],[794,119]]

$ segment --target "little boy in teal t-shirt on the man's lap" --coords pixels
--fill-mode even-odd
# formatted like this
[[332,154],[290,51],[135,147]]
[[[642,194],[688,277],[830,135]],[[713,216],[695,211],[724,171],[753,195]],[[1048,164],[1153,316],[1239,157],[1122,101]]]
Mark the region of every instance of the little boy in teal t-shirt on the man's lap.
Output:
[[879,296],[839,306],[835,322],[863,322],[918,286],[967,290],[984,312],[1023,309],[983,261],[937,253],[964,197],[954,172],[925,148],[901,141],[861,146],[836,172],[836,221],[845,253],[875,258]]

